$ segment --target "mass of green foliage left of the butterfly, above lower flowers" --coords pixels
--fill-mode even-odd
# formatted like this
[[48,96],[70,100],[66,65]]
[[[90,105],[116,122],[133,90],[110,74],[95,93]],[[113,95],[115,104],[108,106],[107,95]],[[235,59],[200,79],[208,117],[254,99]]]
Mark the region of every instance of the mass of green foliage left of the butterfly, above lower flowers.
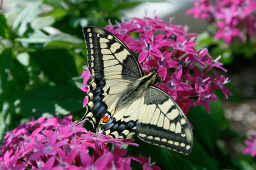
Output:
[[79,89],[87,64],[82,28],[122,17],[133,1],[13,0],[0,14],[0,138],[19,120],[84,114]]

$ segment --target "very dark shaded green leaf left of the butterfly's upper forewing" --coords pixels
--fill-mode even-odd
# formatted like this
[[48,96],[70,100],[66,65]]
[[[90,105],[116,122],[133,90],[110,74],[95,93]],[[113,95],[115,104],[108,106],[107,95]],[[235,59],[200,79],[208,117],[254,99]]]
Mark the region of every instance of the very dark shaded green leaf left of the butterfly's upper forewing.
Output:
[[42,50],[30,53],[30,56],[52,81],[60,82],[77,76],[74,59],[65,49]]

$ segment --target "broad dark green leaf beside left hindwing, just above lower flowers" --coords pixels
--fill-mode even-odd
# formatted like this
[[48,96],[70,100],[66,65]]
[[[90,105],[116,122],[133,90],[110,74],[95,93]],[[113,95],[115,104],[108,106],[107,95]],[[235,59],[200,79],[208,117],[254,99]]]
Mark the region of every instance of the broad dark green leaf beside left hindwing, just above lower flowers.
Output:
[[43,85],[26,91],[20,99],[19,113],[38,118],[44,113],[68,115],[83,111],[84,94],[72,84],[74,82],[58,83],[54,86]]

